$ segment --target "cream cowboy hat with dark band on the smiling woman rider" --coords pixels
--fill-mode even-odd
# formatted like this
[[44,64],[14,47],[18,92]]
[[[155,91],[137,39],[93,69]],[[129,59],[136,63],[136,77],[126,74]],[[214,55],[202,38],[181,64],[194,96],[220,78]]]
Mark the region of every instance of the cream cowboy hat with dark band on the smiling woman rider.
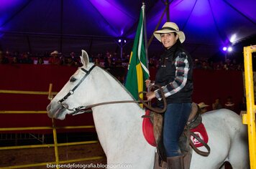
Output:
[[175,32],[176,34],[178,34],[178,37],[179,37],[181,43],[183,43],[185,41],[184,32],[182,32],[178,29],[177,24],[175,24],[174,22],[170,22],[170,21],[165,22],[162,29],[154,32],[154,36],[157,40],[159,40],[161,42],[161,34],[167,34],[167,33],[172,33],[172,32]]

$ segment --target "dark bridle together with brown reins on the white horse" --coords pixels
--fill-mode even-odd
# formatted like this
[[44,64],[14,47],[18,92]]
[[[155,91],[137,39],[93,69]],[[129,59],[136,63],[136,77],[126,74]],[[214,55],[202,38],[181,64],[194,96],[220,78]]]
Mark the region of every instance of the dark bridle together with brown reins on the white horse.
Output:
[[[163,109],[158,109],[158,108],[154,108],[154,107],[151,107],[150,105],[147,104],[147,102],[150,102],[149,100],[142,100],[140,97],[139,97],[139,101],[137,100],[122,100],[122,101],[111,101],[111,102],[100,102],[100,103],[96,103],[96,104],[93,104],[93,105],[88,105],[88,106],[79,106],[79,107],[74,107],[74,108],[69,108],[68,104],[63,104],[63,102],[65,100],[68,99],[68,97],[70,97],[70,95],[73,95],[75,90],[78,88],[78,86],[83,82],[84,79],[86,79],[86,77],[91,73],[91,71],[93,70],[93,68],[96,67],[96,65],[94,64],[89,70],[86,70],[86,69],[83,69],[81,68],[81,70],[83,70],[83,72],[86,72],[86,74],[83,76],[83,78],[78,82],[78,84],[76,84],[75,87],[73,87],[72,90],[70,90],[68,92],[67,95],[65,95],[61,100],[58,101],[58,104],[61,105],[62,107],[64,107],[66,110],[69,110],[71,111],[71,113],[69,113],[69,115],[78,115],[78,114],[81,114],[81,113],[85,113],[85,112],[91,112],[91,107],[96,107],[96,106],[99,106],[99,105],[109,105],[109,104],[116,104],[116,103],[142,103],[143,105],[145,105],[145,107],[147,107],[148,109],[154,111],[154,112],[157,112],[157,113],[163,113],[165,112],[166,110],[166,99],[165,97],[163,97]],[[160,86],[158,85],[152,85],[150,87],[150,90],[152,89],[152,87],[157,87],[160,89],[160,92],[161,94],[164,96],[164,93],[163,93],[163,90]],[[145,92],[139,92],[139,95],[140,94],[143,94]]]

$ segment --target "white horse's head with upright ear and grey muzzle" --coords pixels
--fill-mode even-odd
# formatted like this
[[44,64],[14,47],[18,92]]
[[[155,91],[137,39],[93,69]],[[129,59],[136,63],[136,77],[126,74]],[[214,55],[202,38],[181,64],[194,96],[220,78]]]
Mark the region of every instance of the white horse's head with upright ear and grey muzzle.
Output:
[[[83,67],[78,68],[63,89],[47,106],[49,117],[63,120],[67,114],[80,112],[84,108],[83,105],[88,105],[88,102],[92,99],[90,98],[90,91],[95,90],[93,89],[95,80],[92,80],[91,72],[93,72],[95,65],[89,62],[88,54],[84,50],[82,50],[81,62]],[[85,85],[89,82],[91,85]]]

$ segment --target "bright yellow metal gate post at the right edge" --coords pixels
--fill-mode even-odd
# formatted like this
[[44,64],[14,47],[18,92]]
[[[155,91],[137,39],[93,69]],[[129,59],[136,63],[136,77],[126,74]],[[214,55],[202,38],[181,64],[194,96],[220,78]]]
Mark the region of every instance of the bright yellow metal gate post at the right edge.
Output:
[[255,98],[252,74],[252,52],[256,52],[256,45],[244,47],[244,77],[247,99],[247,113],[243,114],[242,121],[248,127],[250,168],[256,169],[256,134],[255,134]]

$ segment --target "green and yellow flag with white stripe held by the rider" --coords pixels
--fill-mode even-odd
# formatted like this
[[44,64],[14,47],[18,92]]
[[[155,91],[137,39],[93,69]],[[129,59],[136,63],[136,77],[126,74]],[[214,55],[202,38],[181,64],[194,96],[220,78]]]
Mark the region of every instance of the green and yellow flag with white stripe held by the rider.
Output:
[[[150,76],[147,69],[147,57],[145,49],[145,40],[147,39],[145,39],[144,10],[145,5],[142,5],[142,10],[140,11],[140,20],[129,59],[127,79],[125,82],[125,87],[132,94],[135,100],[138,100],[139,92],[145,91],[145,80]],[[142,95],[140,97],[142,97]]]

